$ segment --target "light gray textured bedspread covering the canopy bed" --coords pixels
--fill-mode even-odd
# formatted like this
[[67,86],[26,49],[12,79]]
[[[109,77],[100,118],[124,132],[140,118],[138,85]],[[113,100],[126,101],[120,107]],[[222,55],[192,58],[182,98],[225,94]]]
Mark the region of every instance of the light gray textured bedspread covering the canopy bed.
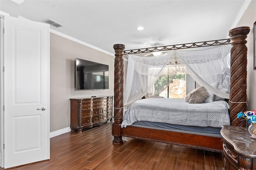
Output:
[[190,104],[184,99],[150,98],[138,100],[124,114],[122,128],[136,121],[174,125],[220,127],[230,125],[226,101]]

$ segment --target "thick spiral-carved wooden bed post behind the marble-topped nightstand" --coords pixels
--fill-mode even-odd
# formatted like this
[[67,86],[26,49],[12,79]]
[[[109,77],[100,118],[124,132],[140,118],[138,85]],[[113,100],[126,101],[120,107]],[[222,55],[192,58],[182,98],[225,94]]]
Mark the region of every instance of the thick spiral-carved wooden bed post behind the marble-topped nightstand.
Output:
[[[247,47],[245,40],[250,27],[238,27],[229,31],[232,39],[230,59],[230,125],[245,127],[236,115],[246,111]],[[232,103],[233,102],[233,103]],[[241,103],[239,103],[241,102]]]

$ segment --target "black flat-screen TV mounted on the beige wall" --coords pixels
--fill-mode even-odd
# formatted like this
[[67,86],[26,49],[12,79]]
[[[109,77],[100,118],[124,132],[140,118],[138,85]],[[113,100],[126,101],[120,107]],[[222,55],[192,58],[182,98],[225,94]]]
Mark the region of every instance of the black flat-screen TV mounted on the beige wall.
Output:
[[109,89],[108,65],[76,58],[76,89]]

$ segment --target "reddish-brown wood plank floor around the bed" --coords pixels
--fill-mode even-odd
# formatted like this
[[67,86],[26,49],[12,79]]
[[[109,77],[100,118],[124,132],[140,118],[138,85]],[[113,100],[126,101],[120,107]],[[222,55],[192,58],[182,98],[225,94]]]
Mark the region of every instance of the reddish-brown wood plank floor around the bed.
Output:
[[[128,138],[113,145],[111,124],[50,139],[50,160],[12,170],[222,170],[222,154]],[[3,168],[0,168],[3,169]]]

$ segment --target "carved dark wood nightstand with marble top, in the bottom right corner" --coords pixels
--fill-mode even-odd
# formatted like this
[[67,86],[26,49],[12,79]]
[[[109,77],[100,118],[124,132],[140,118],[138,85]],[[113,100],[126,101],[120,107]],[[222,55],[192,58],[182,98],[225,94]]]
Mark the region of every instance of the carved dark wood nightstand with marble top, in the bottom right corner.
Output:
[[256,140],[248,128],[222,126],[223,170],[256,170]]

